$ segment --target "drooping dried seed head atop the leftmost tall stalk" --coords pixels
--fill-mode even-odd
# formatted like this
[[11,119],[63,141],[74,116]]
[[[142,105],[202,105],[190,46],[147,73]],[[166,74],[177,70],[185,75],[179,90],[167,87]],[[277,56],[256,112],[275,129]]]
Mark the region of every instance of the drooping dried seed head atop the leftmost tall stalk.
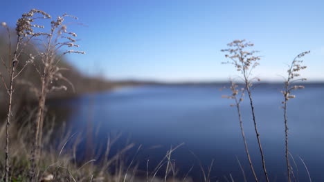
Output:
[[[35,14],[42,14],[42,17],[35,17]],[[44,26],[39,26],[32,24],[35,19],[51,19],[51,15],[47,14],[42,10],[30,10],[28,13],[22,14],[21,18],[17,20],[16,32],[19,37],[27,37],[28,35],[39,36],[44,33],[34,33],[33,28],[44,28]]]

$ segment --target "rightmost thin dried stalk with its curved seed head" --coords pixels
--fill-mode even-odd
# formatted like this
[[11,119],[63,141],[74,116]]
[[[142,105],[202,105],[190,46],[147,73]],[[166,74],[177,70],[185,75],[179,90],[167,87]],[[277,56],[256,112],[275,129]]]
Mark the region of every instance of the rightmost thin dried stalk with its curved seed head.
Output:
[[287,101],[289,101],[289,99],[294,99],[295,95],[291,95],[291,91],[292,90],[297,90],[297,89],[303,89],[304,86],[303,85],[295,85],[295,86],[290,86],[291,83],[293,83],[294,81],[305,81],[306,79],[294,79],[295,77],[299,77],[300,74],[298,74],[297,72],[299,72],[300,70],[304,70],[306,68],[306,66],[300,66],[300,63],[302,63],[303,61],[299,61],[297,60],[298,58],[304,57],[305,54],[308,54],[309,51],[307,52],[302,52],[300,54],[298,54],[297,57],[295,57],[295,59],[291,62],[291,65],[289,65],[289,69],[287,70],[288,72],[288,77],[285,80],[285,91],[282,91],[283,96],[285,97],[285,101],[282,101],[282,108],[284,109],[284,120],[285,120],[285,157],[286,157],[286,165],[287,165],[287,178],[288,181],[291,182],[291,177],[290,174],[293,174],[291,172],[291,166],[289,163],[289,148],[288,148],[288,119],[287,119]]

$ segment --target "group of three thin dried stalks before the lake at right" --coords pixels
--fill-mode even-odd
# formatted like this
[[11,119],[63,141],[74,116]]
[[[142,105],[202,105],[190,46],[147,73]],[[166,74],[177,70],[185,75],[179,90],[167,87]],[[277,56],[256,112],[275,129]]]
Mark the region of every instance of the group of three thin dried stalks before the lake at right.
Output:
[[[225,63],[230,63],[230,64],[234,65],[235,69],[238,72],[240,72],[240,74],[241,74],[240,79],[242,80],[242,82],[244,84],[244,87],[240,88],[239,85],[237,85],[236,83],[231,81],[231,86],[229,88],[231,89],[232,94],[229,96],[224,95],[223,97],[228,98],[228,99],[233,99],[235,101],[235,103],[232,104],[231,106],[235,106],[237,108],[237,114],[238,114],[238,119],[240,121],[240,128],[241,128],[242,139],[243,139],[245,150],[246,150],[246,156],[249,160],[251,172],[253,173],[255,181],[258,181],[258,177],[255,175],[255,171],[254,171],[253,164],[251,161],[251,156],[249,154],[248,145],[246,143],[246,138],[245,138],[244,129],[243,129],[242,116],[241,116],[242,114],[240,111],[240,103],[243,101],[244,92],[248,93],[249,101],[250,101],[250,105],[251,105],[251,114],[252,114],[253,123],[254,123],[254,127],[255,127],[255,134],[258,139],[258,145],[259,145],[260,154],[261,154],[261,158],[262,158],[262,168],[264,171],[264,177],[265,177],[266,181],[269,181],[269,177],[268,177],[266,166],[265,166],[264,153],[263,153],[262,145],[260,142],[260,133],[258,132],[257,122],[255,120],[254,105],[253,105],[253,99],[252,99],[252,94],[251,94],[251,87],[253,85],[253,81],[255,81],[255,80],[260,81],[260,79],[252,77],[253,70],[256,66],[259,65],[259,61],[260,61],[260,57],[255,56],[255,54],[258,53],[258,51],[248,49],[248,48],[253,47],[253,45],[254,45],[253,43],[246,43],[245,40],[235,40],[231,43],[228,43],[228,47],[229,47],[228,49],[222,50],[222,52],[227,53],[227,54],[225,54],[225,57],[227,59],[230,59],[230,61],[227,61]],[[303,85],[296,85],[295,82],[306,80],[304,78],[299,79],[300,70],[304,70],[306,68],[306,66],[301,65],[301,63],[303,63],[303,61],[300,59],[303,58],[306,54],[309,54],[309,51],[302,52],[302,53],[298,54],[298,56],[295,57],[295,59],[291,62],[291,64],[288,65],[289,68],[287,70],[287,78],[284,77],[284,79],[285,79],[284,80],[284,90],[281,91],[283,94],[283,97],[284,97],[284,101],[282,101],[282,105],[283,105],[282,108],[284,109],[283,117],[285,120],[285,159],[286,159],[286,165],[287,165],[287,181],[289,181],[289,182],[291,181],[291,176],[293,176],[294,181],[296,181],[295,174],[297,174],[298,176],[299,176],[299,174],[298,174],[298,168],[297,168],[296,162],[294,161],[294,157],[290,154],[289,148],[288,148],[287,101],[289,101],[289,99],[294,99],[296,97],[295,95],[291,94],[292,91],[305,88]],[[238,88],[240,88],[240,89],[238,89]],[[297,170],[296,172],[294,172],[294,170],[292,170],[291,165],[289,163],[289,154],[291,156],[291,159],[295,163],[296,170]],[[303,159],[300,159],[300,160],[305,165]],[[306,165],[305,165],[305,168],[306,168],[307,174],[309,176],[309,181],[312,181]],[[242,171],[244,172],[243,169],[242,169]],[[298,181],[298,179],[299,178],[297,178],[297,181]]]

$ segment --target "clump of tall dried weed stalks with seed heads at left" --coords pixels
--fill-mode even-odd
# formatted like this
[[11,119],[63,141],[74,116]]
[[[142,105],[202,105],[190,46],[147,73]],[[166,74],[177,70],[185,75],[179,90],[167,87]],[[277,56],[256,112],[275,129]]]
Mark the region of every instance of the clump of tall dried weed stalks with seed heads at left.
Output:
[[[14,84],[15,79],[19,77],[19,74],[24,71],[27,65],[33,65],[35,68],[35,72],[37,72],[39,75],[40,80],[40,87],[37,88],[35,83],[30,83],[24,79],[20,79],[17,83],[28,85],[29,90],[35,94],[35,97],[38,99],[38,108],[37,108],[37,117],[35,118],[35,129],[34,129],[34,144],[33,144],[33,150],[32,150],[32,156],[30,158],[30,161],[32,163],[30,168],[30,180],[34,181],[34,179],[38,179],[38,175],[36,172],[36,168],[38,166],[38,156],[42,156],[40,153],[42,151],[42,127],[44,123],[44,115],[45,115],[45,102],[46,97],[48,93],[54,92],[57,90],[66,90],[65,85],[59,85],[56,86],[54,82],[57,82],[59,80],[66,81],[66,83],[71,82],[62,76],[61,71],[66,70],[66,68],[60,68],[59,63],[61,61],[61,54],[67,54],[67,53],[81,53],[84,54],[84,52],[78,51],[78,50],[64,50],[63,53],[60,53],[62,51],[62,48],[71,48],[71,47],[79,47],[79,45],[75,44],[75,39],[73,37],[77,37],[77,35],[74,32],[68,32],[66,30],[66,25],[64,24],[64,18],[65,17],[72,17],[73,19],[76,19],[73,16],[70,16],[69,14],[63,14],[62,17],[57,17],[55,20],[51,20],[51,15],[47,14],[46,12],[42,10],[30,10],[28,13],[24,13],[21,15],[21,18],[17,20],[17,26],[15,28],[16,35],[17,35],[17,43],[15,46],[15,50],[11,50],[11,38],[10,38],[10,31],[9,28],[6,26],[6,23],[1,23],[1,25],[6,28],[8,32],[8,61],[5,59],[2,59],[1,57],[1,63],[3,63],[3,66],[6,67],[6,71],[8,72],[8,81],[1,76],[1,81],[3,82],[3,85],[5,86],[7,92],[8,92],[8,117],[7,117],[7,126],[6,126],[6,175],[5,180],[8,181],[8,173],[9,173],[9,156],[10,152],[9,147],[9,130],[10,130],[10,123],[12,121],[12,117],[15,113],[12,113],[12,97],[13,92],[15,90]],[[43,30],[39,32],[40,29],[44,29],[44,26],[40,26],[37,24],[38,19],[48,19],[50,20],[50,30]],[[35,39],[37,37],[37,39]],[[35,54],[29,54],[28,60],[23,63],[24,65],[20,70],[17,70],[17,66],[19,63],[21,63],[21,55],[27,54],[25,52],[25,48],[30,43],[30,41],[34,41],[37,45],[43,45],[42,46],[35,46],[36,52]],[[39,43],[37,43],[39,41]],[[37,58],[37,59],[35,59]],[[37,63],[35,63],[37,61]],[[7,64],[8,62],[8,64]],[[73,85],[72,85],[73,88]],[[74,90],[74,88],[73,88]]]

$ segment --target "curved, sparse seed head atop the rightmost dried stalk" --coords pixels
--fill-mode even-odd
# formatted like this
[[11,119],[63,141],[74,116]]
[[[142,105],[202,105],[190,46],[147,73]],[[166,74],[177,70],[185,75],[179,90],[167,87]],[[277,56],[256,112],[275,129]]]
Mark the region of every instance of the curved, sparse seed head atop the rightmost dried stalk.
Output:
[[300,77],[300,70],[305,70],[307,67],[304,65],[301,65],[303,63],[303,60],[298,60],[302,57],[304,57],[306,54],[309,54],[310,51],[302,52],[298,54],[294,61],[291,62],[291,65],[289,65],[288,77],[285,80],[285,90],[282,90],[281,93],[285,97],[285,101],[282,101],[283,104],[285,104],[289,99],[294,99],[296,96],[294,94],[291,94],[291,91],[297,90],[297,89],[303,89],[305,88],[303,85],[291,85],[295,81],[305,81],[305,78],[302,79],[296,79],[297,77]]

